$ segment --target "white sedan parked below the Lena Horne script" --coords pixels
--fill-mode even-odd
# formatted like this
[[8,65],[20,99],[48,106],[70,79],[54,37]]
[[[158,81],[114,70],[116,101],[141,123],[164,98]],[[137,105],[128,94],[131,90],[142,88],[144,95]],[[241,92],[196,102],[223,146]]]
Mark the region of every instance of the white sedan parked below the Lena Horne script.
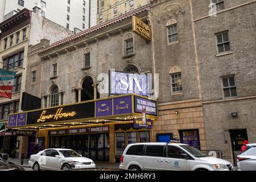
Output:
[[28,166],[34,171],[67,170],[72,168],[95,168],[93,160],[84,158],[76,151],[65,148],[48,148],[31,155]]

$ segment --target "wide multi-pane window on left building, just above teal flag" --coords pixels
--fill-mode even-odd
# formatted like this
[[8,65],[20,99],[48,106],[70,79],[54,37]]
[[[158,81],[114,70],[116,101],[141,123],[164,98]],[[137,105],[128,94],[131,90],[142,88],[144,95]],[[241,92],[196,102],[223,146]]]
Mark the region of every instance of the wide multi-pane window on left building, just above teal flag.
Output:
[[16,53],[13,56],[7,57],[3,60],[3,69],[10,70],[15,67],[21,67],[23,65],[24,51]]

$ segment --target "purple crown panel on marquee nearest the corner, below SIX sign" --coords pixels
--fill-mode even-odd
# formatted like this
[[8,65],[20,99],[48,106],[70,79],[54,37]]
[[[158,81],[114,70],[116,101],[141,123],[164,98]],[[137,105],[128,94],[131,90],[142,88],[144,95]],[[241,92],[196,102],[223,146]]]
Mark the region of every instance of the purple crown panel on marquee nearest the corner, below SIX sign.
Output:
[[114,115],[131,114],[133,112],[131,97],[132,96],[114,98]]

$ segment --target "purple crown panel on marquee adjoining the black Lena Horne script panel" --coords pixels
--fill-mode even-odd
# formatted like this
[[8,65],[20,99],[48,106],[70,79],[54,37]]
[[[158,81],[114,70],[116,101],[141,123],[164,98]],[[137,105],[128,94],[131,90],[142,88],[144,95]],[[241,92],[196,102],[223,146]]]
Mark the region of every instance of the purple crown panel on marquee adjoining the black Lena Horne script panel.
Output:
[[96,117],[112,115],[112,99],[96,101]]

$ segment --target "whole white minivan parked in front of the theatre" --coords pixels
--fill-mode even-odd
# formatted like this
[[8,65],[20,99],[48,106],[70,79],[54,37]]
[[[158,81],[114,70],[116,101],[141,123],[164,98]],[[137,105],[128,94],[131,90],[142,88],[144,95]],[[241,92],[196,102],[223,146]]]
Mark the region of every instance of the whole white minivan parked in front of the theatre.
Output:
[[133,171],[234,171],[228,161],[206,156],[182,143],[129,144],[123,151],[119,168]]

